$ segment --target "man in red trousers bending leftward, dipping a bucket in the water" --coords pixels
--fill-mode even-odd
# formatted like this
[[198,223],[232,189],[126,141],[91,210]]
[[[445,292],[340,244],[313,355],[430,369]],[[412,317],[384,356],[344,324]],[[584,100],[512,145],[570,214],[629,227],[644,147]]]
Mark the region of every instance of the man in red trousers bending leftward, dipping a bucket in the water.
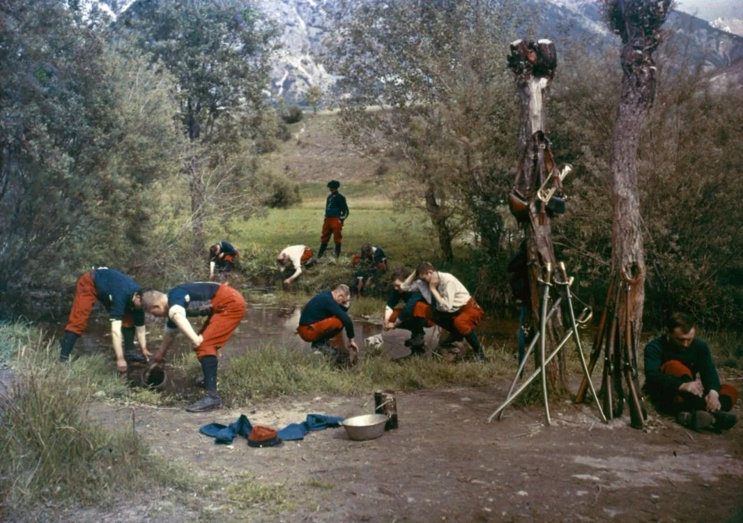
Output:
[[[142,308],[153,316],[168,318],[160,348],[152,357],[156,364],[165,363],[165,355],[175,335],[181,331],[190,340],[204,372],[206,393],[201,400],[186,407],[188,412],[205,412],[222,406],[217,392],[217,351],[227,343],[245,315],[245,300],[229,285],[212,282],[190,282],[163,294],[143,290]],[[207,316],[196,334],[186,316]]]

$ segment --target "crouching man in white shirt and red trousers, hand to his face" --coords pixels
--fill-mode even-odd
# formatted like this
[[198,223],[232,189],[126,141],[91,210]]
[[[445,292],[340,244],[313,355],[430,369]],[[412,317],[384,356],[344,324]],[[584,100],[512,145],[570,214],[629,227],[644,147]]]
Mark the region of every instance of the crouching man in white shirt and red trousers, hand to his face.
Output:
[[440,346],[452,347],[455,342],[467,340],[475,352],[476,360],[484,361],[485,355],[474,331],[484,314],[467,288],[450,273],[435,270],[429,262],[418,265],[418,278],[426,282],[431,290],[435,302],[433,322],[450,333]]

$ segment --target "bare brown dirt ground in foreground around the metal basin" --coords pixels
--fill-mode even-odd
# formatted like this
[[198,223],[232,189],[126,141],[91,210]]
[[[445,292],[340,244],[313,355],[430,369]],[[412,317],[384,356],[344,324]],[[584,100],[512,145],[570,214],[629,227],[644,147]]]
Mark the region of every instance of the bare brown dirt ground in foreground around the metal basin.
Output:
[[242,438],[217,445],[198,427],[241,413],[276,428],[314,412],[371,413],[371,392],[204,414],[97,404],[95,418],[124,426],[134,409],[146,444],[198,478],[247,474],[284,484],[287,502],[245,511],[221,498],[184,502],[160,492],[106,513],[58,513],[55,521],[743,521],[743,427],[696,433],[655,417],[642,432],[628,419],[603,425],[594,409],[569,402],[552,406],[552,426],[539,405],[485,423],[505,386],[398,394],[400,426],[377,440],[350,441],[344,429],[328,429],[267,449]]

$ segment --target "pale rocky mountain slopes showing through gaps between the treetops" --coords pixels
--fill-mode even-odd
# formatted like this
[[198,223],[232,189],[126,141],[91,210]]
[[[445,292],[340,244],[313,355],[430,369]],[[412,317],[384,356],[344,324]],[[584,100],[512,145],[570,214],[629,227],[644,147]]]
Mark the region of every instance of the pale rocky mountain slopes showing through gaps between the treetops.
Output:
[[[85,0],[105,6],[113,16],[122,13],[136,0]],[[208,1],[208,0],[204,0]],[[381,1],[381,0],[380,0]],[[334,0],[262,0],[259,5],[282,30],[282,48],[276,53],[270,91],[285,103],[301,103],[312,85],[329,93],[334,77],[319,59],[323,39],[332,29],[328,8]],[[600,49],[617,46],[617,37],[607,29],[596,0],[523,0],[530,13],[539,13],[540,36],[557,41],[557,36],[572,41],[591,42]],[[672,30],[669,40],[686,49],[694,63],[716,73],[716,82],[743,84],[743,22],[718,19],[712,24],[681,11],[669,16],[666,27]],[[658,57],[660,62],[663,56]]]

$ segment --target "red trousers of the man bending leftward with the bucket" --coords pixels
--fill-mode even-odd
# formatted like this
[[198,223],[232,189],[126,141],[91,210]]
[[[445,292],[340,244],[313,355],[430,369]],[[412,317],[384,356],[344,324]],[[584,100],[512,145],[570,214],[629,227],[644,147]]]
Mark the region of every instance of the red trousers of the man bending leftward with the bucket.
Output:
[[198,334],[204,337],[196,351],[196,357],[216,356],[217,350],[227,343],[240,321],[245,316],[245,300],[241,293],[229,285],[220,285],[212,298],[212,314],[207,318]]

